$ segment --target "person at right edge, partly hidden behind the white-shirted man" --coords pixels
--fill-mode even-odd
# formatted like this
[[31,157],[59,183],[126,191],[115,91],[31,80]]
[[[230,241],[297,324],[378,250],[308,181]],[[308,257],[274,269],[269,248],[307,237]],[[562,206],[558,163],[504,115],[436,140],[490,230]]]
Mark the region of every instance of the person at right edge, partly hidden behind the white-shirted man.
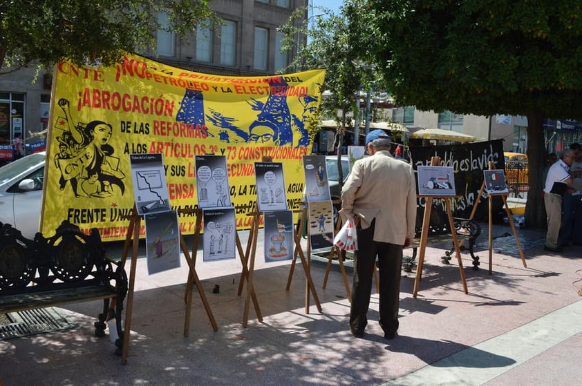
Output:
[[562,197],[562,227],[560,229],[560,244],[562,246],[582,245],[582,155],[579,143],[570,145],[574,151],[574,161],[570,166],[572,183]]

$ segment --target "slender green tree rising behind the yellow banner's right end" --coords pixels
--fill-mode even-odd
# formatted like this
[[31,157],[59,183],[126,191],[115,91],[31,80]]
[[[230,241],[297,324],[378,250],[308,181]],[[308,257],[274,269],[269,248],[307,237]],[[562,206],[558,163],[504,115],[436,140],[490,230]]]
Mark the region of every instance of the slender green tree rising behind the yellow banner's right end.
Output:
[[[377,79],[371,66],[370,39],[373,34],[362,33],[370,25],[372,12],[364,12],[362,1],[346,0],[340,7],[340,14],[333,14],[327,8],[298,8],[280,30],[285,32],[284,50],[297,48],[297,55],[285,70],[294,68],[325,68],[326,79],[322,91],[330,91],[321,102],[321,114],[332,115],[338,122],[337,148],[341,148],[347,128],[352,126],[351,118],[359,117],[358,90],[369,90]],[[312,16],[307,18],[308,9]],[[302,23],[297,23],[297,19]],[[309,37],[308,43],[300,37]],[[341,116],[337,117],[337,111]],[[338,151],[338,165],[340,164]],[[339,182],[343,175],[339,168]]]

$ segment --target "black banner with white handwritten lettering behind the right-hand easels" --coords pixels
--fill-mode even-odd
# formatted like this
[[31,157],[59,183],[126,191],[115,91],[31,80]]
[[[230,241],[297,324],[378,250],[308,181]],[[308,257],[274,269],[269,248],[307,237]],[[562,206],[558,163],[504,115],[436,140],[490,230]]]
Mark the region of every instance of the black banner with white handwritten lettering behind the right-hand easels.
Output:
[[[411,157],[413,168],[417,166],[430,165],[431,157],[440,157],[440,166],[452,166],[455,171],[456,193],[461,197],[453,198],[453,216],[469,218],[479,191],[483,184],[483,171],[489,168],[489,162],[493,161],[496,168],[505,169],[505,159],[503,158],[503,139],[496,139],[489,142],[474,142],[461,145],[444,146],[422,146],[411,147]],[[480,197],[477,211],[473,218],[483,220],[487,216],[487,198]],[[422,224],[422,213],[424,213],[424,198],[419,199],[418,213]],[[444,202],[433,201],[434,216],[439,216],[442,221],[447,221],[444,211]],[[494,197],[493,218],[495,222],[503,219],[503,200]]]

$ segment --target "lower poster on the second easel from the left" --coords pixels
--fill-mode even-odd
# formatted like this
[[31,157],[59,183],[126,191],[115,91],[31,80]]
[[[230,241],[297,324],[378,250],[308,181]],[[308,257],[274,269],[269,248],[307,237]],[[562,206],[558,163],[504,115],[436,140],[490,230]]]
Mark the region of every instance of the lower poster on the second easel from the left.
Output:
[[234,208],[203,209],[203,261],[234,259]]

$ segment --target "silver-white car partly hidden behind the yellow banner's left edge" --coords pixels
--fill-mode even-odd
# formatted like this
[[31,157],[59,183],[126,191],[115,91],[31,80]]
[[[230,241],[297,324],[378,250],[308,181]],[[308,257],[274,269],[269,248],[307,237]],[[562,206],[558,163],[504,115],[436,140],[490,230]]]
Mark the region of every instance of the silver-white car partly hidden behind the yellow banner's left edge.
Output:
[[0,222],[31,240],[40,226],[45,162],[42,151],[0,167]]

